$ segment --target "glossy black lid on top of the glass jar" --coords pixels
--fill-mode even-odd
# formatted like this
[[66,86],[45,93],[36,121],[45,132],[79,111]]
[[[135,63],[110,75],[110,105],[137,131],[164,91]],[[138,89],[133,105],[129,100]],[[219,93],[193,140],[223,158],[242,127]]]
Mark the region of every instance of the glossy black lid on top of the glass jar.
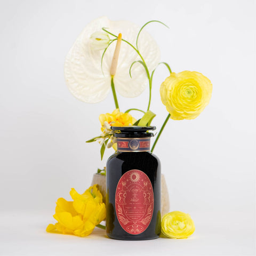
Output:
[[156,126],[111,126],[111,130],[116,131],[114,136],[117,138],[145,138],[154,136],[147,131],[156,130]]

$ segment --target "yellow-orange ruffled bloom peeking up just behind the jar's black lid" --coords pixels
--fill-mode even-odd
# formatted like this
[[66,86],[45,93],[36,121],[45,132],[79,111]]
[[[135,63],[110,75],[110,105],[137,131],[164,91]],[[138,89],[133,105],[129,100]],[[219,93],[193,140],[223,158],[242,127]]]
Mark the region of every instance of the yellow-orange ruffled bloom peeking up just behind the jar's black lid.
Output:
[[107,121],[111,126],[129,126],[136,122],[136,119],[133,118],[131,114],[122,113],[118,108],[115,109],[111,114],[101,114],[99,119],[101,126],[103,126],[105,121]]

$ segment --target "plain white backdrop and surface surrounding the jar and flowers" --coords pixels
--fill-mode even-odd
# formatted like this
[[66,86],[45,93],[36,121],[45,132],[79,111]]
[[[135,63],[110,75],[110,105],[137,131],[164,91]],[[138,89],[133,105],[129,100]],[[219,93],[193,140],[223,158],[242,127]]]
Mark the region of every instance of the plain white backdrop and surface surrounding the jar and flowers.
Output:
[[[1,1],[0,2],[0,254],[1,255],[254,255],[255,253],[255,1]],[[105,166],[99,114],[113,96],[90,105],[71,95],[63,63],[91,20],[107,15],[142,26],[174,72],[196,70],[213,84],[210,105],[193,121],[166,125],[161,158],[171,211],[189,213],[189,239],[124,242],[95,229],[85,238],[45,232],[55,201],[82,193]],[[161,127],[167,112],[159,86],[151,110]],[[121,110],[146,108],[118,95]],[[135,117],[137,113],[132,113]]]

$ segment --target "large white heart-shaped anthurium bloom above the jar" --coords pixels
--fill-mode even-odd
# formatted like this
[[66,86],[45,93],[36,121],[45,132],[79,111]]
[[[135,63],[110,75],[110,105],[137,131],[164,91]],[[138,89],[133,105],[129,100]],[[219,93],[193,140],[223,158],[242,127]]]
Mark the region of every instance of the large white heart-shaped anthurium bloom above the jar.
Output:
[[[111,43],[106,50],[102,60],[102,70],[103,50],[95,50],[91,47],[90,38],[95,33],[102,31],[105,34],[102,28],[106,28],[116,36],[122,33],[122,38],[133,46],[136,45],[140,30],[138,25],[130,21],[110,21],[107,17],[101,17],[89,23],[78,36],[66,57],[65,79],[70,92],[77,99],[88,103],[102,101],[111,88],[110,67],[117,41]],[[109,36],[115,39],[114,36]],[[103,38],[102,35],[100,38]],[[144,29],[138,39],[138,49],[151,73],[159,63],[160,50],[155,40]],[[129,44],[122,42],[113,81],[115,89],[123,97],[137,97],[147,86],[147,74],[140,63],[137,62],[132,66],[132,78],[130,77],[130,66],[137,60],[141,60],[138,53]]]

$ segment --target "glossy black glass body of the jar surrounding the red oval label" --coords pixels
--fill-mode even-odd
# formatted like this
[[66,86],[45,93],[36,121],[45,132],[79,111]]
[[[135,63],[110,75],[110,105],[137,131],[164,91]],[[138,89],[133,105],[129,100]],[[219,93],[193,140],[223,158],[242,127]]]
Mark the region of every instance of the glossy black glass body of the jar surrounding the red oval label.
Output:
[[[127,171],[137,169],[144,172],[154,191],[154,212],[148,228],[141,234],[127,233],[119,224],[115,211],[115,193],[119,179]],[[161,164],[159,159],[148,151],[117,152],[107,162],[107,235],[122,240],[146,240],[159,237],[161,233]]]

